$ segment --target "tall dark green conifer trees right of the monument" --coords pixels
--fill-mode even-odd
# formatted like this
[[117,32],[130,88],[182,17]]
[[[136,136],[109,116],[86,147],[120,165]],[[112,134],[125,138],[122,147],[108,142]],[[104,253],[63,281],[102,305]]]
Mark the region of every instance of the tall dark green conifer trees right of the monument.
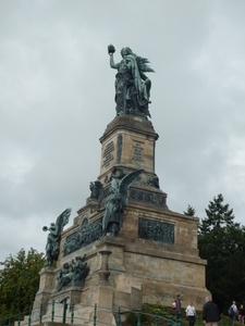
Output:
[[209,202],[206,214],[198,227],[199,255],[208,262],[206,286],[226,312],[232,300],[245,299],[245,229],[234,222],[221,193]]

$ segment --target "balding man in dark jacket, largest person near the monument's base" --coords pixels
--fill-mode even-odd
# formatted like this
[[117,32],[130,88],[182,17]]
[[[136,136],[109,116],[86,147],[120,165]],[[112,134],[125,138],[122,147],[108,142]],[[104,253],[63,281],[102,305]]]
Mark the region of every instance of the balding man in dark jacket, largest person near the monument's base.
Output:
[[218,305],[212,302],[211,296],[205,298],[206,303],[203,306],[203,321],[206,326],[218,326],[220,322],[220,311]]

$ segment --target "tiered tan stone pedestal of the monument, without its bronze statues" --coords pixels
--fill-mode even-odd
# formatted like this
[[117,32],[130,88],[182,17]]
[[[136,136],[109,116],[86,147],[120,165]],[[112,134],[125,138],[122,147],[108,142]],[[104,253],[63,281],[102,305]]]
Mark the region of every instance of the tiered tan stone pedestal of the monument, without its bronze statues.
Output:
[[[95,304],[97,322],[109,325],[115,324],[119,308],[135,310],[143,303],[170,306],[177,293],[183,306],[194,301],[195,308],[201,309],[209,292],[205,284],[207,262],[197,249],[198,218],[168,208],[167,193],[155,172],[157,139],[152,124],[140,117],[118,116],[107,126],[100,138],[98,180],[102,192],[88,198],[74,224],[63,231],[57,268],[40,273],[35,308],[69,296],[70,303],[75,304],[74,324],[84,318],[88,325],[93,325]],[[103,212],[97,206],[107,201],[112,177],[121,179],[136,170],[144,172],[130,188],[122,227],[117,237],[105,236],[100,233]],[[72,246],[65,251],[68,243]],[[85,256],[89,266],[85,284],[59,292],[57,274],[75,256]]]

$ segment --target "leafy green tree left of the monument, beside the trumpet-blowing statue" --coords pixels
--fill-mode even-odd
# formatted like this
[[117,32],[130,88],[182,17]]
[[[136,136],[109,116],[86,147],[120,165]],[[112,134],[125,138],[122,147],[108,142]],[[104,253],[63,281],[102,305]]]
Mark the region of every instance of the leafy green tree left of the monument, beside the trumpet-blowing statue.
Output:
[[44,253],[30,248],[22,249],[15,256],[10,254],[1,262],[0,319],[27,311],[39,287],[39,272],[44,266]]

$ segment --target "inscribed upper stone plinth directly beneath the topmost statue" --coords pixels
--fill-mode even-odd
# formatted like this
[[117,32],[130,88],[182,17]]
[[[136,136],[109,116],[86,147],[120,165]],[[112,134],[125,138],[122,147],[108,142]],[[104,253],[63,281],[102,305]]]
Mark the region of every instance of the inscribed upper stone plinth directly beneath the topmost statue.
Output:
[[100,178],[109,177],[114,166],[131,171],[144,168],[145,173],[154,174],[157,139],[149,121],[131,115],[118,116],[100,138]]

